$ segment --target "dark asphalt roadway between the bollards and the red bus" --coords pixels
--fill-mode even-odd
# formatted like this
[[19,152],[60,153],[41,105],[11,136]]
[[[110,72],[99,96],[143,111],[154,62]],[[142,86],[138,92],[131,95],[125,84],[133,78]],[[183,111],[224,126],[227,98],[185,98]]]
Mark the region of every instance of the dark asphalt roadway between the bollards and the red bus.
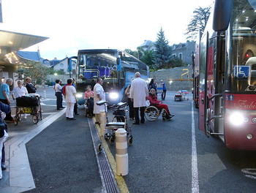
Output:
[[[174,94],[168,92],[165,101],[175,114],[171,121],[159,118],[132,126],[129,175],[124,176],[129,192],[254,192],[256,175],[246,177],[243,171],[255,173],[255,152],[231,151],[221,140],[207,138],[197,129],[197,109],[192,107],[191,98],[174,102]],[[115,146],[109,147],[115,156]]]

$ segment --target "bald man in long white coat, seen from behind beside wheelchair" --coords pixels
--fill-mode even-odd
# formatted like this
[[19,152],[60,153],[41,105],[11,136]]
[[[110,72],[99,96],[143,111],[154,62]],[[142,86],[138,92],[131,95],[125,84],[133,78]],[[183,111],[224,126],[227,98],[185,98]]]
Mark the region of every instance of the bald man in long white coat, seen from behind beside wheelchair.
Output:
[[[132,80],[130,98],[135,108],[135,123],[144,124],[146,100],[148,99],[148,86],[145,80],[140,78],[140,72],[135,73],[135,80]],[[140,109],[140,118],[139,118]]]

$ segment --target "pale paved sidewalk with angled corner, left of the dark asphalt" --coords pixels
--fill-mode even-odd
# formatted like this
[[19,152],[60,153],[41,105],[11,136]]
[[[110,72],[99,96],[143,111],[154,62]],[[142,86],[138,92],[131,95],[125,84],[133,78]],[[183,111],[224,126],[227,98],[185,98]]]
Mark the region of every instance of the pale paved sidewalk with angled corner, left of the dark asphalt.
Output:
[[[53,88],[39,88],[38,93],[43,94],[46,91],[48,95],[53,95]],[[51,101],[53,97],[46,100]],[[42,99],[44,100],[44,99]],[[15,101],[10,99],[12,107],[12,117],[15,116]],[[26,120],[23,118],[15,126],[14,123],[7,123],[9,137],[5,145],[5,156],[7,170],[3,171],[3,178],[0,181],[0,192],[21,192],[26,189],[31,189],[34,186],[34,180],[31,176],[31,171],[29,167],[29,160],[26,155],[25,144],[35,135],[45,129],[45,127],[52,123],[54,119],[59,118],[64,113],[63,111],[57,112],[56,102],[53,99],[53,105],[43,105],[43,119],[37,124],[33,124],[31,121],[31,116],[28,116]],[[22,160],[20,162],[20,160]],[[24,179],[28,180],[29,183],[24,183]],[[30,179],[30,180],[29,180]]]

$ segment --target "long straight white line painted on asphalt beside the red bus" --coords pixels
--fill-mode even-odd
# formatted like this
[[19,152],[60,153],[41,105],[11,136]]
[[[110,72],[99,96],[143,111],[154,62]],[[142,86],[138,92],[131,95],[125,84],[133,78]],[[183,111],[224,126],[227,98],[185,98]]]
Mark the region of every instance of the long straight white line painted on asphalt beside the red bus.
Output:
[[192,193],[199,192],[198,170],[197,170],[197,143],[195,141],[195,119],[194,104],[192,104]]

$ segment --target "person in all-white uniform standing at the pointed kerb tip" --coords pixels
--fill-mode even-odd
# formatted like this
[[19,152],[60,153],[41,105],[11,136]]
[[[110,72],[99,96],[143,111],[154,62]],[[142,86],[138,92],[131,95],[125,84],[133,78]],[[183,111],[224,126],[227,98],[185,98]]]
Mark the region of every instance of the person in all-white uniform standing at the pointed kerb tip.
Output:
[[74,106],[75,102],[78,102],[77,97],[75,96],[77,92],[75,91],[75,87],[72,86],[72,79],[67,80],[67,85],[63,88],[63,94],[67,103],[66,110],[66,119],[67,120],[75,120],[74,118]]

